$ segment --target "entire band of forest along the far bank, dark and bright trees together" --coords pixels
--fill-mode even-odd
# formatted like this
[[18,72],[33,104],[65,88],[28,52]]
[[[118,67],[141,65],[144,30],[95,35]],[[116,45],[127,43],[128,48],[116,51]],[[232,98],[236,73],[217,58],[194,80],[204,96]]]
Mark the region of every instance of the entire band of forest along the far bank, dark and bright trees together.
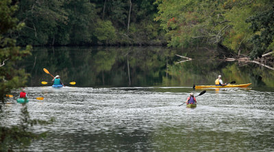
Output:
[[273,50],[274,1],[13,1],[18,45],[221,46],[261,57]]

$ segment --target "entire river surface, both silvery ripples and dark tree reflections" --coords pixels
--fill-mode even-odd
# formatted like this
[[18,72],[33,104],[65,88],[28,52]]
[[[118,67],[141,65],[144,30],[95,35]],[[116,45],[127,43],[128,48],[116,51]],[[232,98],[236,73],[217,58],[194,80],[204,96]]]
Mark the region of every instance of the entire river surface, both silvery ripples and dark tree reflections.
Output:
[[[137,53],[132,51],[131,56],[136,57],[142,51],[144,50],[138,49]],[[142,58],[140,62],[129,58],[128,49],[121,51],[122,55],[114,55],[110,50],[104,50],[102,55],[98,55],[100,51],[82,50],[82,53],[77,52],[78,57],[71,50],[64,51],[64,58],[69,59],[66,55],[73,54],[74,60],[67,61],[65,65],[53,62],[53,67],[48,62],[55,59],[53,56],[56,52],[54,55],[52,51],[48,52],[50,53],[40,50],[34,53],[32,60],[36,60],[35,65],[29,60],[24,63],[27,71],[32,74],[26,88],[29,103],[17,104],[14,103],[15,97],[10,98],[10,104],[6,104],[1,113],[1,125],[5,126],[18,124],[18,115],[23,106],[27,106],[31,118],[55,118],[52,124],[32,127],[32,131],[36,133],[48,131],[47,138],[34,140],[24,151],[274,149],[273,71],[237,63],[190,61],[176,64],[178,58],[171,57],[170,53],[166,53],[169,58],[162,58],[154,52],[150,56],[153,61],[139,56]],[[108,57],[115,57],[111,64],[105,65],[104,62],[97,61],[99,56],[105,58],[108,55],[105,52],[110,52]],[[162,50],[156,52],[162,54]],[[188,56],[188,53],[176,53]],[[38,57],[39,54],[43,54],[43,58],[50,56],[51,59],[39,61],[37,58],[42,58]],[[189,54],[195,56],[193,53]],[[95,55],[97,58],[93,57]],[[92,61],[84,58],[85,56],[92,56]],[[76,62],[75,58],[80,57],[82,60]],[[58,70],[58,65],[62,66],[61,70]],[[94,67],[95,65],[101,68]],[[215,66],[208,68],[212,65]],[[76,81],[77,84],[67,84],[59,89],[52,88],[51,84],[44,86],[39,82],[50,81],[51,77],[42,68],[47,68],[50,73],[58,73],[61,79],[64,78],[64,82]],[[71,74],[73,72],[70,68],[76,74]],[[86,71],[80,71],[85,68]],[[69,77],[70,74],[72,77]],[[212,83],[214,75],[219,74],[225,76],[227,81],[236,80],[237,84],[253,84],[249,88],[192,89],[194,83]],[[82,75],[81,79],[79,75]],[[206,93],[197,97],[196,108],[178,106],[186,101],[190,92],[197,96],[203,90]],[[16,93],[14,90],[13,94]],[[39,101],[36,97],[45,99]]]

